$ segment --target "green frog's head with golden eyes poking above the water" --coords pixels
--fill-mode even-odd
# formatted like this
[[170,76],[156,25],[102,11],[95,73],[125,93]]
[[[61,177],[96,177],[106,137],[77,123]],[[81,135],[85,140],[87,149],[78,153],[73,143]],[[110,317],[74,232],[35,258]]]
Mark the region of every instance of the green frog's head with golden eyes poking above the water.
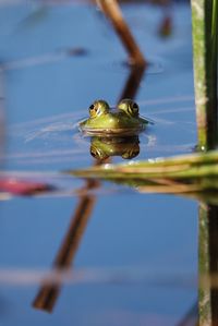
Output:
[[105,100],[96,100],[89,107],[89,118],[80,123],[80,129],[88,135],[123,136],[138,134],[147,123],[131,99],[123,99],[117,109],[111,109]]

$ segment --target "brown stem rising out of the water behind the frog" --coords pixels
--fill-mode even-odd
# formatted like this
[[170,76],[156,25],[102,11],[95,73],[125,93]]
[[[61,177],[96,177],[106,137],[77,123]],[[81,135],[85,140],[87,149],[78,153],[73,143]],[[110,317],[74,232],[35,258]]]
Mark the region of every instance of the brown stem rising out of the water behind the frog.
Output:
[[137,67],[144,67],[146,64],[144,56],[142,55],[128,24],[122,16],[117,0],[97,0],[97,3],[109,17],[121,41],[123,43],[130,57],[130,63]]

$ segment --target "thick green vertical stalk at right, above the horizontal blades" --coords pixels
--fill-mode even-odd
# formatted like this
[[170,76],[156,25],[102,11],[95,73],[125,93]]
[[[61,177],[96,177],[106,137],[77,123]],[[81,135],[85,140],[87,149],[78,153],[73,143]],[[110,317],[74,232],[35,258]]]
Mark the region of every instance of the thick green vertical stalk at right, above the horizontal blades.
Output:
[[198,147],[211,149],[217,141],[217,0],[191,2]]

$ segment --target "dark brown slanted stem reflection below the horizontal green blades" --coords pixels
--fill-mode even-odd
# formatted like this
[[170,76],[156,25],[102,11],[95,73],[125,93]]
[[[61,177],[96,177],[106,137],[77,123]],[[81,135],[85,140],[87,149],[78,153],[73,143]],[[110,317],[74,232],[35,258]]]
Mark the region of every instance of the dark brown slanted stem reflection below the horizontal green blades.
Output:
[[[96,181],[87,181],[86,190],[93,190],[98,186]],[[83,237],[88,218],[95,205],[95,196],[90,194],[81,195],[72,222],[68,230],[62,245],[53,263],[53,268],[62,270],[70,268],[71,263],[75,256],[77,246]],[[36,295],[33,306],[51,312],[56,300],[59,295],[60,286],[58,285],[44,285]]]

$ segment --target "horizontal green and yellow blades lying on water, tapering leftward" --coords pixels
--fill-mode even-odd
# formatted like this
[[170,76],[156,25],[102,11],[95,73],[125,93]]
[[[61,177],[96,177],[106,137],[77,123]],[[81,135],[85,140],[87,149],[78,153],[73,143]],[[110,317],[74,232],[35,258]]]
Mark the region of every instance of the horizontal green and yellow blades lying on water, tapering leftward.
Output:
[[[113,182],[129,183],[147,191],[201,192],[218,190],[218,152],[181,155],[169,158],[148,159],[131,164],[90,167],[66,173],[80,178],[98,178]],[[150,186],[153,185],[153,188]],[[167,186],[170,186],[167,190]]]

